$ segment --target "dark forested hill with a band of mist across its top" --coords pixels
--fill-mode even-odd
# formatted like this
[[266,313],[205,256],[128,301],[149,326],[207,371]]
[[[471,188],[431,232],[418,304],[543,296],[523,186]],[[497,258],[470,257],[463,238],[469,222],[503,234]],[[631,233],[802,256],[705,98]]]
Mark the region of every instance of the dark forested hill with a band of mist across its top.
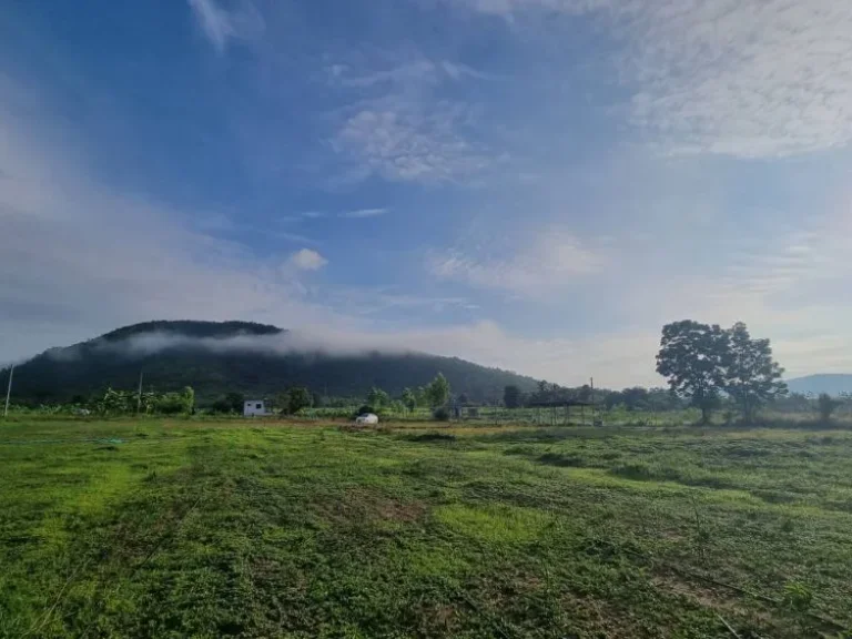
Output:
[[246,322],[148,322],[119,328],[67,348],[52,348],[18,366],[18,402],[52,403],[89,397],[106,387],[131,389],[143,372],[144,387],[195,389],[201,404],[224,393],[266,397],[292,385],[328,396],[363,397],[372,386],[398,395],[443,373],[454,394],[496,400],[506,385],[532,390],[536,382],[465,362],[420,353],[328,356],[287,353],[288,334]]

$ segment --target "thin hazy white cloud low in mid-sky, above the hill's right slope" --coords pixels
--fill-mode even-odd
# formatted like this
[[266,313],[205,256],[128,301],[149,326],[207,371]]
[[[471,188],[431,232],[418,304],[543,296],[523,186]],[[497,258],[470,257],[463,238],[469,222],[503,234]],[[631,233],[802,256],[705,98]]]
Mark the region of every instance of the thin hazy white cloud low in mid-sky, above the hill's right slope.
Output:
[[503,247],[505,254],[477,256],[464,250],[433,253],[427,266],[437,277],[480,288],[540,296],[600,271],[602,250],[558,229],[546,229],[519,244]]

